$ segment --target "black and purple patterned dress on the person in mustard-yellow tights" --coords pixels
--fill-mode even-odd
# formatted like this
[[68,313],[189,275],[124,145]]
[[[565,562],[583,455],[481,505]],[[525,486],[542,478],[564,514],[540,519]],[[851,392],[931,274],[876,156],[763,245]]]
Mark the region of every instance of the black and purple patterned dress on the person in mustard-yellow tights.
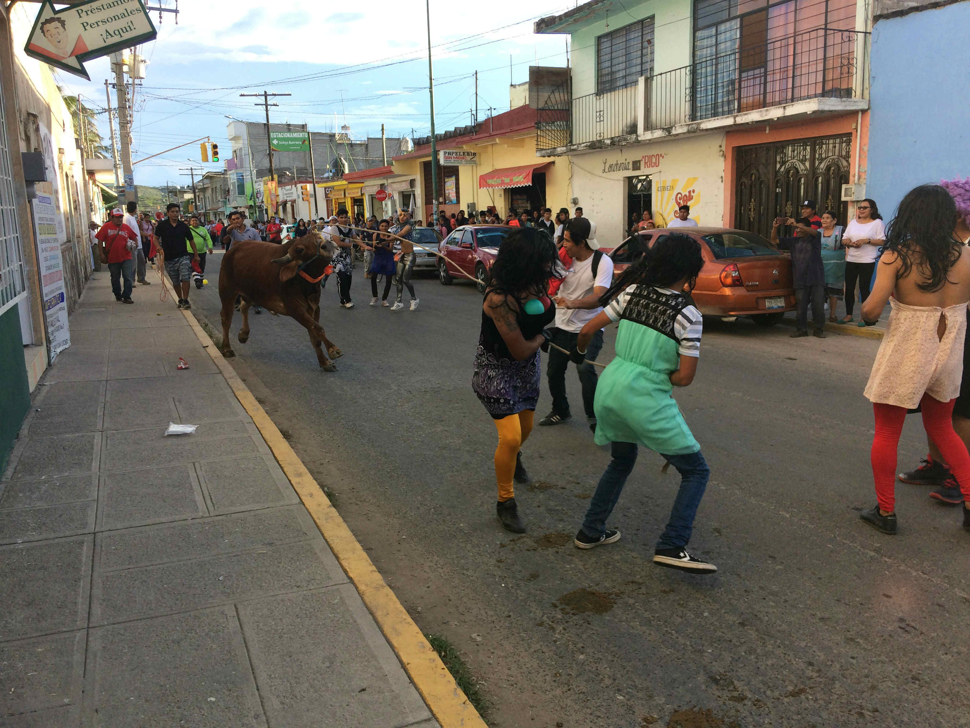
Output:
[[[526,340],[537,336],[556,317],[556,304],[549,302],[541,314],[516,316],[522,336]],[[534,410],[539,400],[539,352],[524,361],[516,361],[505,346],[495,321],[482,312],[482,328],[478,335],[471,388],[485,405],[493,419],[523,410]]]

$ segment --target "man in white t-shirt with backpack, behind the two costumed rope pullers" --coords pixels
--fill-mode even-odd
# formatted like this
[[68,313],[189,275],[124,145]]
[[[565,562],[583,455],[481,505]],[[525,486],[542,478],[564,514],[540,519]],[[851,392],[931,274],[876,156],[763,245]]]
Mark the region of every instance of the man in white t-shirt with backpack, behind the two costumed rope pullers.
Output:
[[[596,225],[585,217],[573,217],[566,223],[563,247],[572,258],[572,265],[566,271],[566,278],[555,299],[556,325],[550,328],[550,332],[553,344],[572,351],[583,325],[602,311],[599,296],[613,282],[613,261],[599,250]],[[602,346],[603,332],[600,329],[586,348],[586,359],[595,361]],[[549,381],[549,393],[552,395],[552,412],[539,421],[540,425],[559,424],[572,416],[569,413],[569,400],[566,399],[568,366],[569,355],[550,347],[546,377]],[[586,419],[590,429],[596,431],[597,418],[593,411],[593,400],[597,393],[597,370],[592,364],[584,363],[577,364],[576,371],[583,387]]]

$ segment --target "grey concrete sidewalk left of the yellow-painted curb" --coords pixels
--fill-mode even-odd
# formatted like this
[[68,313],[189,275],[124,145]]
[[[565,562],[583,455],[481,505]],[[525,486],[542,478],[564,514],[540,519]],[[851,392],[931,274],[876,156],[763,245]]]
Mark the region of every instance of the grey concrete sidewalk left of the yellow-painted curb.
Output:
[[0,480],[0,724],[436,726],[149,280],[88,282]]

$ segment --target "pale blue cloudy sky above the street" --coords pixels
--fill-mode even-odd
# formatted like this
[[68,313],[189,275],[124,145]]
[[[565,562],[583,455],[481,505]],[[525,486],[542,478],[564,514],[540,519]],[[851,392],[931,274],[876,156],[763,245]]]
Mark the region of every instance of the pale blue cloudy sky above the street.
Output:
[[[555,0],[544,0],[554,2]],[[146,5],[155,5],[152,0]],[[174,8],[174,0],[161,0]],[[533,21],[574,7],[521,0],[431,0],[438,132],[469,123],[478,71],[478,113],[508,109],[509,64],[514,83],[529,66],[566,65],[566,36],[536,36]],[[421,136],[428,116],[427,25],[423,0],[396,3],[321,3],[288,0],[276,10],[256,0],[181,0],[172,14],[152,21],[158,38],[141,47],[146,80],[135,96],[135,160],[210,135],[229,155],[226,116],[263,120],[256,99],[240,93],[288,92],[271,120],[308,123],[332,131],[346,122],[354,136]],[[336,11],[336,12],[335,12]],[[103,107],[109,63],[85,63],[91,83],[58,72],[60,82]],[[342,97],[342,98],[341,98]],[[114,102],[112,102],[114,103]],[[108,138],[106,115],[102,136]],[[168,152],[135,167],[139,184],[186,183],[178,167],[200,165],[199,148]],[[205,165],[215,170],[221,165]]]

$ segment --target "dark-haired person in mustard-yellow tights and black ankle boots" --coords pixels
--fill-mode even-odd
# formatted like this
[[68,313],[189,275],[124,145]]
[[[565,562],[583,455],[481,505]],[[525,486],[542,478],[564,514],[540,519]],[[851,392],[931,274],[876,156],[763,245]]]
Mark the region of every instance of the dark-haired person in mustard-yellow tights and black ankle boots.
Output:
[[556,248],[541,232],[511,230],[492,263],[482,303],[471,388],[499,431],[496,513],[512,533],[526,532],[512,481],[529,482],[521,448],[533,430],[539,399],[539,347],[548,341],[544,329],[556,315],[556,305],[546,296],[556,263]]

